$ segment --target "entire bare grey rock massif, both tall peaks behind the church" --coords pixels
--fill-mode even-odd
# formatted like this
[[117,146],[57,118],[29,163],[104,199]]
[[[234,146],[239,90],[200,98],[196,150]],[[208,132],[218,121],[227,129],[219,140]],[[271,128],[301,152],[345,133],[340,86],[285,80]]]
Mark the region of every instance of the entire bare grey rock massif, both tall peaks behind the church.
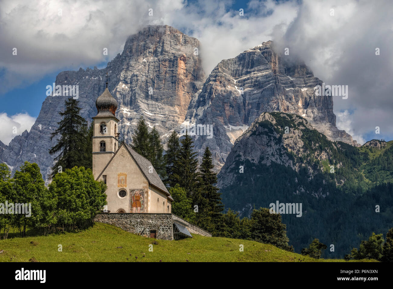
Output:
[[[80,68],[57,75],[56,85],[78,85],[81,115],[89,122],[96,114],[95,100],[106,88],[116,99],[120,139],[132,142],[137,121],[143,117],[156,127],[165,144],[182,124],[213,127],[213,133],[195,136],[199,156],[209,146],[213,162],[221,168],[232,145],[264,112],[297,114],[330,140],[356,145],[336,127],[331,96],[316,97],[322,81],[305,63],[287,61],[275,52],[272,41],[263,42],[234,58],[224,59],[205,80],[198,55],[200,42],[167,25],[147,26],[130,35],[123,52],[107,67]],[[43,92],[44,93],[44,92]],[[48,150],[69,96],[48,96],[29,133],[0,144],[0,159],[18,168],[25,160],[37,162],[44,177],[53,166]]]

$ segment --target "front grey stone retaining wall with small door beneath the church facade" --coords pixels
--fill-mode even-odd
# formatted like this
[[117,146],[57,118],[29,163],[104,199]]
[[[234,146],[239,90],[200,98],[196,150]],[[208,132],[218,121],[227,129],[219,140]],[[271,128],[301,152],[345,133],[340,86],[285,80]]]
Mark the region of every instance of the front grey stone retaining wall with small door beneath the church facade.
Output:
[[173,240],[172,214],[99,213],[94,221],[145,237],[150,237],[150,231],[156,230],[157,239]]

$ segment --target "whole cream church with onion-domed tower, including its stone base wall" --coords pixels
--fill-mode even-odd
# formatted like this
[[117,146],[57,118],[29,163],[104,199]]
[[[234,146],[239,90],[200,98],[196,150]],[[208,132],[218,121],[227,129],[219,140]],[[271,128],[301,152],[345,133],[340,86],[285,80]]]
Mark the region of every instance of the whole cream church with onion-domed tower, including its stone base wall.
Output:
[[191,233],[211,237],[209,232],[172,214],[173,198],[149,160],[124,142],[119,146],[118,103],[108,87],[95,106],[93,175],[107,184],[108,204],[94,221],[157,239],[181,239],[192,237]]

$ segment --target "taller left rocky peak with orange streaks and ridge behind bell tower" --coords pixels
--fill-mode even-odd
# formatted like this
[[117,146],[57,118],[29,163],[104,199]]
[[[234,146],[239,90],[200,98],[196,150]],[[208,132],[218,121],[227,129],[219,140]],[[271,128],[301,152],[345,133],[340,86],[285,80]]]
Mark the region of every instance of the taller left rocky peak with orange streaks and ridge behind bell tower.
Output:
[[[97,114],[95,101],[106,88],[116,99],[116,117],[120,120],[120,139],[132,142],[137,121],[143,117],[156,127],[163,142],[185,119],[191,98],[203,85],[204,72],[198,51],[200,42],[167,25],[147,26],[130,35],[123,52],[107,67],[63,71],[56,85],[77,85],[81,115],[91,122]],[[43,91],[45,93],[45,91]],[[44,178],[53,166],[48,150],[56,144],[50,134],[58,127],[59,112],[70,96],[48,96],[29,133],[15,137],[8,146],[0,144],[0,159],[13,171],[25,160],[36,162]]]

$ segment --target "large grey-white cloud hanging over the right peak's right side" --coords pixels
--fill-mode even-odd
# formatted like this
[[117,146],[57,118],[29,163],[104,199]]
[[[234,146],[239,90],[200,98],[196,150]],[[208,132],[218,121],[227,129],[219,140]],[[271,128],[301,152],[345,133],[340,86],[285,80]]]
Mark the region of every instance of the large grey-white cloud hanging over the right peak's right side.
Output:
[[[289,47],[327,85],[348,85],[348,99],[333,98],[334,112],[337,125],[358,142],[375,126],[393,137],[392,13],[389,1],[304,0],[285,34],[275,33],[275,43]],[[345,110],[354,112],[340,113]]]

